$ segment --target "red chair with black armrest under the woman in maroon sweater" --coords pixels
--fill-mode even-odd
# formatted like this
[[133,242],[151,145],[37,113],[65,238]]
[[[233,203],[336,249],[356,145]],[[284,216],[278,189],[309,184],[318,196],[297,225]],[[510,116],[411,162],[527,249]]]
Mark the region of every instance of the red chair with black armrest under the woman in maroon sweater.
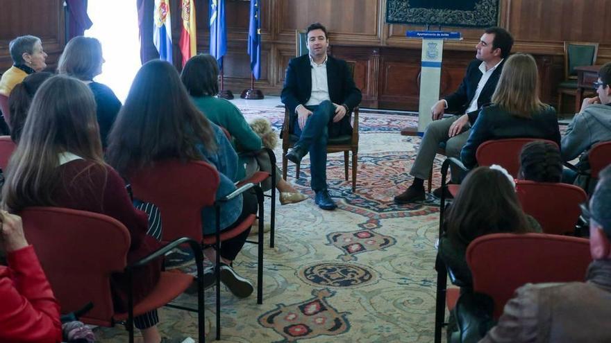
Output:
[[[190,244],[201,261],[199,244],[181,238],[133,265],[126,265],[130,236],[126,227],[108,216],[58,207],[30,207],[19,213],[24,232],[33,245],[42,269],[60,302],[62,313],[71,313],[92,303],[93,308],[80,320],[92,325],[114,326],[126,324],[129,342],[133,342],[133,317],[160,308],[178,297],[192,283],[193,276],[176,272],[162,272],[153,291],[142,301],[133,304],[128,292],[128,313],[117,313],[112,305],[110,275],[116,272],[131,274],[133,267],[144,265],[181,244]],[[201,263],[198,275],[203,274]],[[203,282],[198,277],[198,308],[187,309],[198,313],[199,340],[203,342]]]

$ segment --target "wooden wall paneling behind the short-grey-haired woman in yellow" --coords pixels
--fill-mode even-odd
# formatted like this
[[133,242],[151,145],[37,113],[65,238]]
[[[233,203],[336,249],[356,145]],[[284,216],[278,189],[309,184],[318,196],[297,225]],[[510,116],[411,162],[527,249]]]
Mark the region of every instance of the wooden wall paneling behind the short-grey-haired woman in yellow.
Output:
[[35,35],[49,55],[47,69],[56,67],[65,46],[62,0],[2,0],[0,10],[0,73],[12,65],[8,43],[15,37]]

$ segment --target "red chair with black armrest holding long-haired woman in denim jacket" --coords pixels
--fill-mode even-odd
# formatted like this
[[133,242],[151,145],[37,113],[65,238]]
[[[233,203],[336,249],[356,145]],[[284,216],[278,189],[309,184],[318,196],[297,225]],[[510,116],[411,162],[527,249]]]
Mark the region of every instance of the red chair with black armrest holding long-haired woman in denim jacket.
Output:
[[[178,237],[188,237],[203,245],[214,245],[217,250],[217,340],[221,335],[221,293],[218,275],[220,256],[219,242],[233,238],[249,229],[256,219],[251,215],[238,227],[220,231],[220,204],[233,199],[244,191],[254,188],[257,192],[259,218],[263,218],[263,193],[259,186],[245,184],[223,199],[216,199],[219,186],[219,173],[214,166],[203,161],[181,162],[177,159],[158,161],[151,168],[144,168],[129,178],[133,196],[144,202],[156,204],[161,211],[163,225],[162,240],[174,240]],[[217,233],[203,236],[201,229],[201,209],[207,206],[217,208]],[[258,281],[257,304],[263,299],[263,220],[259,220],[258,233]],[[199,262],[198,262],[199,263]]]

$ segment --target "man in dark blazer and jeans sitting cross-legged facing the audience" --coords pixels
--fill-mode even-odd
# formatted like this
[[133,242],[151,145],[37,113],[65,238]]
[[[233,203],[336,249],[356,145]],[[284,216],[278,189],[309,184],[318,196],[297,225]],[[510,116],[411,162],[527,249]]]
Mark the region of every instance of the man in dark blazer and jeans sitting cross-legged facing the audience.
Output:
[[337,205],[326,183],[327,141],[352,133],[350,114],[360,103],[361,93],[346,62],[327,55],[326,28],[315,23],[306,31],[310,53],[290,60],[281,94],[291,114],[290,130],[300,137],[286,156],[299,163],[310,152],[316,204],[333,210]]

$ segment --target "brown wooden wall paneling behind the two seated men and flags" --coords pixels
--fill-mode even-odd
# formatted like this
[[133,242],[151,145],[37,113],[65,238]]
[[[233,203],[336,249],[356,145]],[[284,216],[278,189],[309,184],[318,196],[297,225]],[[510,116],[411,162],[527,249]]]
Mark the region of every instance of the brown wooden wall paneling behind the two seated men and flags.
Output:
[[[208,1],[198,11],[207,23]],[[262,61],[266,71],[256,87],[265,95],[278,95],[285,69],[294,57],[294,30],[321,21],[330,30],[330,51],[355,64],[355,82],[363,91],[363,104],[373,107],[417,109],[419,96],[419,39],[407,39],[405,30],[424,29],[385,23],[385,0],[262,0]],[[601,41],[597,63],[611,60],[611,0],[499,0],[499,25],[508,28],[516,42],[514,52],[533,53],[542,79],[542,100],[555,104],[562,75],[562,41]],[[585,8],[590,8],[590,12]],[[592,8],[599,10],[592,10]],[[602,10],[605,8],[605,10]],[[238,92],[250,84],[246,54],[249,1],[226,0],[230,53],[226,56],[226,87]],[[201,16],[201,18],[200,18]],[[198,24],[199,24],[198,22]],[[206,24],[198,25],[198,49],[208,51]],[[480,28],[458,30],[464,39],[446,42],[442,91],[454,91],[467,64],[475,56]],[[263,58],[265,55],[265,58]],[[228,69],[232,69],[231,71]],[[235,69],[235,70],[234,70]]]

